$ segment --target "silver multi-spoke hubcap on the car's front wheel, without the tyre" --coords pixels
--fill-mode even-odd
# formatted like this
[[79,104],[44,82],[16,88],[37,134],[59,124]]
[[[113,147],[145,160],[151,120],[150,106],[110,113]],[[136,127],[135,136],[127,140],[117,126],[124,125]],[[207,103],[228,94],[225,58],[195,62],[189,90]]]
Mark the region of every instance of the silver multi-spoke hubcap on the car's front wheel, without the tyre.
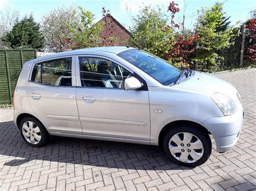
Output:
[[192,163],[198,161],[204,154],[201,140],[188,132],[179,132],[169,141],[169,150],[174,158],[181,162]]

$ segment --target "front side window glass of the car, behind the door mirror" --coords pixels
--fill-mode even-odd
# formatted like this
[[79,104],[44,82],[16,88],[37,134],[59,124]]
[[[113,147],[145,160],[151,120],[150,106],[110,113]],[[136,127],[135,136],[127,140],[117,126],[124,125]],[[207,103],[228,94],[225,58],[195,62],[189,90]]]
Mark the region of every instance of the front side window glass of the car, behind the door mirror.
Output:
[[132,73],[110,60],[97,57],[79,57],[80,79],[84,87],[120,88]]

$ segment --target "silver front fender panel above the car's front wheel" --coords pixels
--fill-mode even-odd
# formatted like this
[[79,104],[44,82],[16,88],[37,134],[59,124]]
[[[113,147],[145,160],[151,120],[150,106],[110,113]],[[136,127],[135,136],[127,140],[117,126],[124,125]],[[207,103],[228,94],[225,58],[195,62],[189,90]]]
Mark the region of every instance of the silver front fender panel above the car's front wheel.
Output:
[[171,122],[191,121],[201,124],[210,117],[223,116],[211,95],[198,91],[166,86],[149,87],[149,99],[152,145],[158,145],[160,131]]

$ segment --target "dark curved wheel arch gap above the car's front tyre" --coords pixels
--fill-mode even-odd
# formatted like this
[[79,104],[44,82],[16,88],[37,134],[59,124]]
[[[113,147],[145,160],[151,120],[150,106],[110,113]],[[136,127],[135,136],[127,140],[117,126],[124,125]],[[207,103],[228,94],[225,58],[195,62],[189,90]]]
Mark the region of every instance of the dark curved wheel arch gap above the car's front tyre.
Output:
[[166,135],[166,133],[178,125],[193,125],[193,126],[195,126],[195,128],[200,129],[200,130],[204,131],[205,133],[211,134],[203,125],[200,125],[199,123],[187,121],[187,120],[173,121],[173,122],[166,124],[161,129],[159,136],[158,136],[158,145],[159,146],[163,145],[163,140],[164,140],[164,136]]

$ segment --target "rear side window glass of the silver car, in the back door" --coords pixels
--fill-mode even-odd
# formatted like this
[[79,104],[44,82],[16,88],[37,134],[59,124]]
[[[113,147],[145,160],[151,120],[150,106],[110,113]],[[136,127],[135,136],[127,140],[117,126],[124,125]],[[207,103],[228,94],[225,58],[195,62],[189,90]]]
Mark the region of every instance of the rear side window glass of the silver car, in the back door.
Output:
[[72,58],[36,63],[31,81],[49,86],[72,86]]

